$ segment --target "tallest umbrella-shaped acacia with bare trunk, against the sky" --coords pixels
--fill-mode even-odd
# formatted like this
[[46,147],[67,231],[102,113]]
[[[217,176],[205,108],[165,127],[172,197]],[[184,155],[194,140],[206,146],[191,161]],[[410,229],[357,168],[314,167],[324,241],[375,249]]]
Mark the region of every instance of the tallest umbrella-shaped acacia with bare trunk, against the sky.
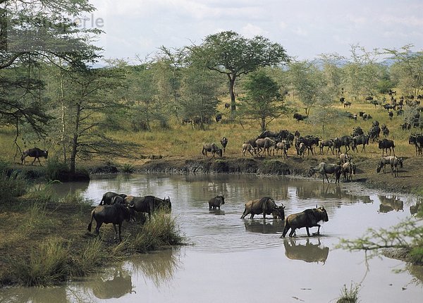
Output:
[[205,61],[207,68],[227,76],[232,112],[236,109],[235,81],[241,75],[288,61],[288,55],[280,44],[262,36],[247,39],[233,31],[209,35],[191,51],[198,61]]

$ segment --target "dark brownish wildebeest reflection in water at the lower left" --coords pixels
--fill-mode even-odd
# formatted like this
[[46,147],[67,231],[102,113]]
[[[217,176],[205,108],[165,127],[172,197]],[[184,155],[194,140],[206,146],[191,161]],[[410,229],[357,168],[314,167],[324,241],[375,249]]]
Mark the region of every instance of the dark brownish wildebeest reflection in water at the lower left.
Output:
[[114,277],[109,280],[99,280],[94,282],[92,293],[99,299],[120,298],[123,295],[135,292],[133,290],[132,278],[128,273],[115,270]]

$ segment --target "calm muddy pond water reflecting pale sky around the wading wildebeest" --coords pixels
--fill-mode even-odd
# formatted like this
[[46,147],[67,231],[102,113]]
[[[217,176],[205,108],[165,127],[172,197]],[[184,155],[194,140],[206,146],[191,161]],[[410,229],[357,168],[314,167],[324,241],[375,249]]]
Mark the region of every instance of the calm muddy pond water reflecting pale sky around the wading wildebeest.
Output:
[[[56,190],[81,192],[93,205],[109,190],[169,196],[192,245],[143,254],[63,287],[3,290],[5,302],[335,302],[343,285],[361,281],[361,302],[422,302],[422,268],[385,257],[366,266],[363,252],[334,249],[340,237],[410,216],[413,197],[250,175],[101,176]],[[207,200],[217,194],[226,203],[209,211]],[[287,215],[324,205],[329,222],[320,236],[305,237],[302,228],[283,239],[281,221],[240,219],[247,200],[264,196],[283,203]]]

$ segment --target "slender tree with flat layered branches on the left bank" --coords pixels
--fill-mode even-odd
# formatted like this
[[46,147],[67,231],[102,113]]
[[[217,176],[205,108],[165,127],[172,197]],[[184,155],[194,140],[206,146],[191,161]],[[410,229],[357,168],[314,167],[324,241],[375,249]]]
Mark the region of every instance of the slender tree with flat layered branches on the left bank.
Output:
[[111,92],[122,85],[123,70],[78,68],[68,70],[63,80],[70,173],[75,173],[77,158],[87,159],[97,154],[127,156],[133,144],[113,140],[102,131],[107,111],[116,111],[122,106]]

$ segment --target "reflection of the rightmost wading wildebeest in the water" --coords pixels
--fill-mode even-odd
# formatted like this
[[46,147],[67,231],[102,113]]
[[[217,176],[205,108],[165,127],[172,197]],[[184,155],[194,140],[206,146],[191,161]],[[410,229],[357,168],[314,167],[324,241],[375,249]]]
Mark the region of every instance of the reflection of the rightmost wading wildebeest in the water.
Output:
[[329,247],[324,247],[317,239],[318,243],[313,244],[309,239],[306,240],[305,245],[297,244],[298,240],[283,240],[285,246],[285,255],[288,259],[302,260],[306,262],[325,262],[328,259]]

